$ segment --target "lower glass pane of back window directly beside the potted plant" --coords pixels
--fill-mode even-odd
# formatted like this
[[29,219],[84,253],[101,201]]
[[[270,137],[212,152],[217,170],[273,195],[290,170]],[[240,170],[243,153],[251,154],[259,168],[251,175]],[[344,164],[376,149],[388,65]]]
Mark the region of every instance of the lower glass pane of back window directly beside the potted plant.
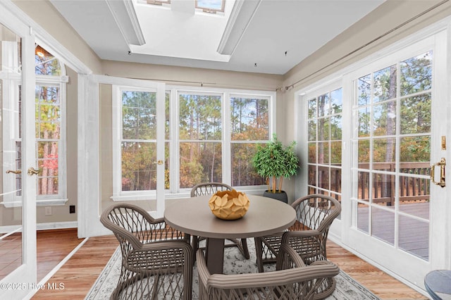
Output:
[[231,144],[232,151],[232,186],[266,185],[263,177],[257,174],[252,159],[257,151],[257,144]]

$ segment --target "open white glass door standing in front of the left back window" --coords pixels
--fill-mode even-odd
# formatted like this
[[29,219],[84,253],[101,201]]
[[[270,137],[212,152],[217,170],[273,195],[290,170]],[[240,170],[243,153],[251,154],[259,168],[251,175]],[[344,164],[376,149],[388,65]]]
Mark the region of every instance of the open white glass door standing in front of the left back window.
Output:
[[[85,161],[79,169],[79,182],[82,183],[79,190],[84,195],[81,203],[84,208],[80,209],[78,217],[79,236],[109,233],[99,221],[101,212],[112,204],[111,201],[102,203],[99,183],[99,141],[111,139],[101,136],[104,132],[99,123],[102,113],[111,115],[113,112],[111,123],[114,129],[109,133],[113,140],[109,145],[113,147],[111,198],[144,205],[143,208],[154,217],[163,217],[165,168],[168,167],[165,156],[165,85],[103,75],[80,75],[79,85],[79,90],[85,94],[79,107],[79,157]],[[99,110],[109,106],[111,110]],[[85,149],[89,149],[89,156]]]

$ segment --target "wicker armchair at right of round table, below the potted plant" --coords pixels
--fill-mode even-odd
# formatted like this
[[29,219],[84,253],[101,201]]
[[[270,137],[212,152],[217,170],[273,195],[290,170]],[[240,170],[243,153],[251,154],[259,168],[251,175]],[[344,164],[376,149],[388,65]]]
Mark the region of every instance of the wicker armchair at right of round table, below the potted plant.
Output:
[[306,265],[327,259],[329,227],[340,215],[340,202],[330,196],[311,194],[297,199],[292,207],[295,208],[297,220],[286,234],[280,232],[254,238],[259,272],[263,272],[264,263],[276,261],[280,244],[283,243],[290,244]]

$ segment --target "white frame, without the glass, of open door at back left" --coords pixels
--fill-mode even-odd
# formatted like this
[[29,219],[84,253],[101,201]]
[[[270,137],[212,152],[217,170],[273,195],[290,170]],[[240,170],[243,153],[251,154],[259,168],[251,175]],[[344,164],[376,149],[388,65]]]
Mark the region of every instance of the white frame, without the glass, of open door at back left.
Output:
[[[101,182],[99,160],[99,84],[144,87],[157,90],[157,113],[164,113],[165,84],[149,80],[111,77],[106,75],[78,76],[78,236],[109,235],[100,223]],[[160,120],[161,118],[157,118]],[[163,125],[157,125],[157,139],[164,141]],[[157,160],[164,161],[164,143],[157,142]],[[164,164],[157,165],[157,178],[164,178]],[[164,180],[158,180],[155,215],[163,216]]]

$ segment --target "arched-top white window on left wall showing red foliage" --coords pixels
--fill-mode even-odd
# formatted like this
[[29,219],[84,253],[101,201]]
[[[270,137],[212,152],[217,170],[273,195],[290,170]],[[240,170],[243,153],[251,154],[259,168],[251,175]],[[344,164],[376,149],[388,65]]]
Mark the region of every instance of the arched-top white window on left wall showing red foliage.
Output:
[[66,201],[65,101],[67,77],[49,51],[35,48],[37,200]]

